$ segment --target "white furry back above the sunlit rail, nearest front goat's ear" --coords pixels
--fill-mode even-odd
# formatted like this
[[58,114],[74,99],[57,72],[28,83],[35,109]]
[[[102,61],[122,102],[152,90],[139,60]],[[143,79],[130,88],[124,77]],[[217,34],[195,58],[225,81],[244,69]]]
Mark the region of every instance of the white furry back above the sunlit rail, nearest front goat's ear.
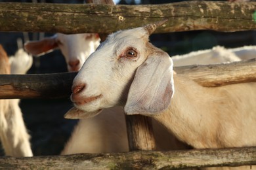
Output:
[[236,56],[236,54],[234,54],[234,52],[222,46],[215,46],[209,50],[199,50],[184,55],[173,56],[172,59],[174,66],[193,64],[205,65],[241,60],[238,56]]

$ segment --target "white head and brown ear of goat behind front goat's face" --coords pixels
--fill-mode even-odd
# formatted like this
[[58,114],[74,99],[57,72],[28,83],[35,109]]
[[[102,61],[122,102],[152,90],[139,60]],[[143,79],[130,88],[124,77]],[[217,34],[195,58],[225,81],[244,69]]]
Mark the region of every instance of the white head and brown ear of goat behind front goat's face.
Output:
[[100,38],[96,33],[71,35],[56,33],[53,37],[47,37],[41,41],[27,42],[24,47],[33,56],[41,56],[55,48],[60,48],[66,59],[68,71],[79,71],[85,60],[99,44]]

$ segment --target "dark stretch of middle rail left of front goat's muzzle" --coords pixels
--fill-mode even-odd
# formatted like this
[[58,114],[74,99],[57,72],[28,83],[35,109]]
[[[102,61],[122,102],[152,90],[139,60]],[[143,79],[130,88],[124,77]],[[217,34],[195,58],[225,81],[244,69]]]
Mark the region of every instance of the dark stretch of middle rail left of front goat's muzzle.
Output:
[[77,73],[0,75],[0,99],[69,97]]

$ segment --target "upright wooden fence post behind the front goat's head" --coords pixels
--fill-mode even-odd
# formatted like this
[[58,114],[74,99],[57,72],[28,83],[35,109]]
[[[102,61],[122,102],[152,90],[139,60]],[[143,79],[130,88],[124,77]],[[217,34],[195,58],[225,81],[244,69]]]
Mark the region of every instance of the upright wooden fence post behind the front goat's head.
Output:
[[[112,0],[86,0],[86,3],[115,5]],[[106,34],[100,34],[101,42],[105,41]],[[154,150],[156,148],[152,119],[141,115],[125,116],[129,149]]]

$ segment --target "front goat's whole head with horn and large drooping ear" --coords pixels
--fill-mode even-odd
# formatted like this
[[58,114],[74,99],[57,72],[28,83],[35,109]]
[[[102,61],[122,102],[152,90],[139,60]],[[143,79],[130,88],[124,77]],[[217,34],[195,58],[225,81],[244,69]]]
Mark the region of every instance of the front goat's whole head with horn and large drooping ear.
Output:
[[97,112],[125,102],[127,114],[167,108],[173,63],[148,42],[154,29],[156,24],[118,31],[100,44],[74,79],[71,100],[77,110]]

